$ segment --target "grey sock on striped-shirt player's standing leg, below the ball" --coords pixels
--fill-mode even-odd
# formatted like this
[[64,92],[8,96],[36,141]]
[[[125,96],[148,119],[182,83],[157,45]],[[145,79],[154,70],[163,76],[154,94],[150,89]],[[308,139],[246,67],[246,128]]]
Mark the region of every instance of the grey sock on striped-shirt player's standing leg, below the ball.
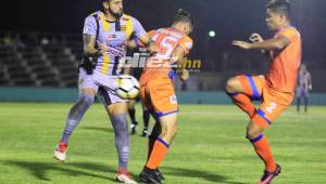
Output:
[[113,115],[111,117],[111,122],[115,133],[118,169],[127,170],[129,158],[129,134],[126,115]]

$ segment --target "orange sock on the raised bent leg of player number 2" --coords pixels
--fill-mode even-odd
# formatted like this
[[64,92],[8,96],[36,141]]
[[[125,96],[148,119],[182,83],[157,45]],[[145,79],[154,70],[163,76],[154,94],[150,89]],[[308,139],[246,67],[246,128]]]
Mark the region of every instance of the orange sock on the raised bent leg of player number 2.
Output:
[[252,118],[255,114],[255,107],[251,102],[251,98],[242,93],[234,93],[229,94],[229,96],[234,100],[235,104],[240,107],[244,113],[248,114],[249,118]]

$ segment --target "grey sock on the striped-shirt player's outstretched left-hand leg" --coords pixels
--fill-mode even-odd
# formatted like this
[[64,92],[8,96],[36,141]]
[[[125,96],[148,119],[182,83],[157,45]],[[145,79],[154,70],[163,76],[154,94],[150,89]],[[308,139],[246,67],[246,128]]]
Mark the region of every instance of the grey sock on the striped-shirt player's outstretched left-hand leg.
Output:
[[80,94],[76,104],[71,108],[66,119],[66,124],[62,133],[61,142],[66,143],[73,131],[78,126],[86,110],[92,105],[95,96]]

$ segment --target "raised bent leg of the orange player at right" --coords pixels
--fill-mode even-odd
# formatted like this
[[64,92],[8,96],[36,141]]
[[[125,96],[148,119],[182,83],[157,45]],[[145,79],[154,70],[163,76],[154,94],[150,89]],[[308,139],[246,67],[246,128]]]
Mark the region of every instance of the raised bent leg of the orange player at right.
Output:
[[262,93],[261,76],[241,75],[230,78],[226,83],[226,92],[251,118],[255,114],[255,107],[252,100],[260,100]]

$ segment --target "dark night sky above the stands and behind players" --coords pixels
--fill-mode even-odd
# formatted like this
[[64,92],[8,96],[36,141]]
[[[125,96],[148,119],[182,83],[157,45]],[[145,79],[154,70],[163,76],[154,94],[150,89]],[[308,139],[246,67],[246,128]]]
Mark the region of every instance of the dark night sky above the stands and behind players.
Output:
[[[149,30],[170,26],[177,9],[196,17],[191,34],[191,57],[221,60],[222,52],[233,51],[233,39],[247,39],[251,32],[273,36],[265,26],[264,0],[125,0],[125,13],[137,17]],[[292,0],[292,22],[303,38],[303,61],[325,62],[326,1]],[[3,2],[2,2],[3,3]],[[100,0],[16,0],[1,5],[1,30],[80,34],[85,17],[101,8]],[[209,30],[216,37],[209,40]]]

